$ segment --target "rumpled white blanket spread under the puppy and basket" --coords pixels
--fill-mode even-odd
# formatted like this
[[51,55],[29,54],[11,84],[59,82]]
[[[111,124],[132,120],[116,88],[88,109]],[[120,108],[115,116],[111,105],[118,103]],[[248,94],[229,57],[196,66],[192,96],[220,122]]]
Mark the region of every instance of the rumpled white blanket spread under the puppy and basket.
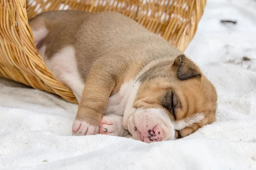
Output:
[[217,122],[151,144],[71,136],[77,105],[0,79],[0,169],[256,170],[255,8],[255,0],[208,0],[186,51],[217,89]]

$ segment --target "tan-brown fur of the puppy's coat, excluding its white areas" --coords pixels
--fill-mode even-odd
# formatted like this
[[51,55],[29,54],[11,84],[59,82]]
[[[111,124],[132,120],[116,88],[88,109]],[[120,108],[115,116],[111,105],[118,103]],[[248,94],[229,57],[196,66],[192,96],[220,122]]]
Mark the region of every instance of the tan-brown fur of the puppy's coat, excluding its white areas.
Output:
[[85,81],[77,120],[99,125],[109,97],[147,67],[139,78],[135,108],[167,107],[172,104],[171,93],[175,113],[165,109],[173,121],[204,113],[202,122],[180,130],[182,137],[215,121],[216,91],[198,66],[135,21],[114,12],[81,11],[53,11],[35,18],[29,21],[33,29],[43,25],[49,30],[39,44],[46,45],[47,56],[67,45],[76,49],[79,73]]

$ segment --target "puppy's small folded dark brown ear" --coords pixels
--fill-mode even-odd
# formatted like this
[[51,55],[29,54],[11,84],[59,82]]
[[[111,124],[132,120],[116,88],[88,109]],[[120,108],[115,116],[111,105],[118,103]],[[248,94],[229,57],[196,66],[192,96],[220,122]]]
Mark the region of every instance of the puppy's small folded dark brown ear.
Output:
[[202,76],[198,66],[183,54],[174,60],[173,66],[175,69],[177,68],[177,77],[180,80],[192,79],[194,77],[201,78]]

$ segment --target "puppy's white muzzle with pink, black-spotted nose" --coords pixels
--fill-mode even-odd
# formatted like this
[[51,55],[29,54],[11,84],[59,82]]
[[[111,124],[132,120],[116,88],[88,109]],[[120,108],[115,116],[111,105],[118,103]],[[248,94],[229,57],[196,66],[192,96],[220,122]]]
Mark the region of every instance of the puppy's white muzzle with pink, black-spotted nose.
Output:
[[174,126],[163,109],[133,110],[128,119],[128,130],[135,140],[150,143],[175,139]]

